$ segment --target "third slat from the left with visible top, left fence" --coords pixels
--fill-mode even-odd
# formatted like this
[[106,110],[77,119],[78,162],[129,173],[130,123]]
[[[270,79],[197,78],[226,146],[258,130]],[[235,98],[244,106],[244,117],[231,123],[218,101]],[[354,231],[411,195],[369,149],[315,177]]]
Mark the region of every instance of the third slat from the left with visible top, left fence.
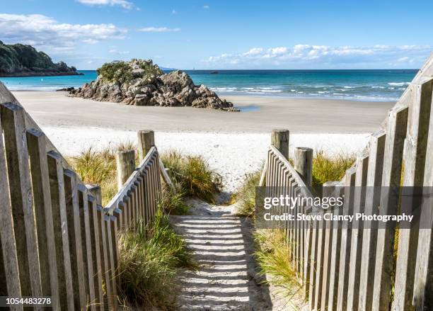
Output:
[[[62,310],[74,311],[74,289],[72,287],[71,256],[69,254],[69,230],[62,157],[57,152],[50,151],[47,153],[47,162],[50,175],[57,276],[59,278],[59,302]],[[79,306],[76,307],[78,308]]]

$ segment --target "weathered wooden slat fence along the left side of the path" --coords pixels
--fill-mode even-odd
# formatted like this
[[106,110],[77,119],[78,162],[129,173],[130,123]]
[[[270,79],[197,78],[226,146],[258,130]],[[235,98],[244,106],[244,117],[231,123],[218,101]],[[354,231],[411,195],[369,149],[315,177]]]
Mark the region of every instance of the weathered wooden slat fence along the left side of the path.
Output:
[[154,217],[160,172],[168,178],[156,147],[103,208],[99,186],[79,179],[1,83],[0,103],[0,296],[116,310],[117,232]]

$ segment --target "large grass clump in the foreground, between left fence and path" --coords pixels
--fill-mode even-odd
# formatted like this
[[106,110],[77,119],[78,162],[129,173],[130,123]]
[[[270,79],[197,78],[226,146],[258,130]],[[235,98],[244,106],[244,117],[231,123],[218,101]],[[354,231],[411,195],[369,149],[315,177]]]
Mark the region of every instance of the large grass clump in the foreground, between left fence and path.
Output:
[[120,295],[126,305],[176,310],[180,268],[194,268],[185,241],[158,210],[154,222],[139,221],[120,236]]

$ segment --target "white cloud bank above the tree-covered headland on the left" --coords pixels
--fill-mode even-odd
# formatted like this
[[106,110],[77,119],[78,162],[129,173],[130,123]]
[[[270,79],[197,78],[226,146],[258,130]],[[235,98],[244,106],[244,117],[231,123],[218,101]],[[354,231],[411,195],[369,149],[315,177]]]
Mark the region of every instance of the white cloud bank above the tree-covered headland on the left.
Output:
[[0,14],[1,38],[8,43],[70,47],[76,43],[98,43],[123,39],[126,30],[112,24],[59,23],[40,14]]

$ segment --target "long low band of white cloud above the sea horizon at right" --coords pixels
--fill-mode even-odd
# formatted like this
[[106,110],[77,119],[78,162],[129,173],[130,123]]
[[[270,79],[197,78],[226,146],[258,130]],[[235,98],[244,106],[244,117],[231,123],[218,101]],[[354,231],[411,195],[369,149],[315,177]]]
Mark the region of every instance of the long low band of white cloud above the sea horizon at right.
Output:
[[[202,62],[209,67],[237,64],[238,67],[398,67],[398,63],[421,64],[432,52],[429,45],[340,46],[294,45],[293,47],[253,47],[243,53],[224,53]],[[408,56],[410,54],[410,56]]]

